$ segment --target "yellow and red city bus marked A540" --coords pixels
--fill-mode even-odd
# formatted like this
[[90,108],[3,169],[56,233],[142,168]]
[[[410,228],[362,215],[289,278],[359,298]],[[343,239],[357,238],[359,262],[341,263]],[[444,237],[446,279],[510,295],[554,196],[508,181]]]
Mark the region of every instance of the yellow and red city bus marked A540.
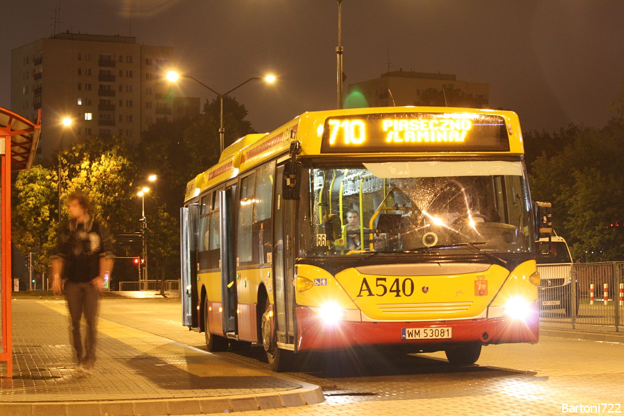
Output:
[[187,185],[183,324],[209,351],[262,345],[276,371],[370,345],[469,365],[483,345],[537,343],[549,218],[514,112],[307,112]]

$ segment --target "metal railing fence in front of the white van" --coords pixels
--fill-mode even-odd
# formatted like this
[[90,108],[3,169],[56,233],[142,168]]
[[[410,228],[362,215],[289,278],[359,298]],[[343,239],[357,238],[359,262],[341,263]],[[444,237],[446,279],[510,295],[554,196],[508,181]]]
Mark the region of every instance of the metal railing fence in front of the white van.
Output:
[[624,262],[538,265],[541,322],[624,327]]

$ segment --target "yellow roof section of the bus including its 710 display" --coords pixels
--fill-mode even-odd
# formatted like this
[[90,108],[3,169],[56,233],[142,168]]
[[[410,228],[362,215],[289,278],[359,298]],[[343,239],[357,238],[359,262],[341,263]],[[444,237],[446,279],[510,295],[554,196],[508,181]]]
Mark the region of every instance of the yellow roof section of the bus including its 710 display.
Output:
[[184,200],[301,144],[300,157],[522,155],[516,113],[460,107],[370,107],[306,112],[228,146],[187,184]]

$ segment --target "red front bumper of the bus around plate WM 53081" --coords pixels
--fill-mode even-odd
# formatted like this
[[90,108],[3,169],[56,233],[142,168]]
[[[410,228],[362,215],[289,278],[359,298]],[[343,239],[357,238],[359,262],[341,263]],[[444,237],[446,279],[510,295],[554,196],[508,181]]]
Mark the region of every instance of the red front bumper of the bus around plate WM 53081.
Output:
[[[349,322],[327,323],[306,306],[297,306],[297,351],[332,351],[366,345],[434,345],[458,343],[504,344],[537,343],[539,315],[532,313],[523,320],[493,318],[448,320],[438,322]],[[433,336],[444,335],[450,328],[451,338],[404,340],[404,329],[433,329]],[[438,329],[438,331],[435,331]],[[412,331],[413,333],[414,331]],[[420,336],[424,336],[424,332]],[[446,332],[448,334],[448,331]],[[443,348],[439,348],[443,349]]]

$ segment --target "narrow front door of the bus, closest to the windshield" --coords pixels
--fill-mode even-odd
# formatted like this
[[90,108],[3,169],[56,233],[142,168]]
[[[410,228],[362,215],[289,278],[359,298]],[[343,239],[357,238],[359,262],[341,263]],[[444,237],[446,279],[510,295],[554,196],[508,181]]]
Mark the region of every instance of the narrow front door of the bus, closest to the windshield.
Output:
[[[277,167],[276,177],[281,178],[284,166]],[[279,183],[279,182],[278,182]],[[284,200],[281,186],[275,187],[275,218],[273,230],[273,276],[275,277],[274,313],[277,317],[277,343],[293,345],[295,343],[295,286],[294,278],[294,236],[295,203]]]

